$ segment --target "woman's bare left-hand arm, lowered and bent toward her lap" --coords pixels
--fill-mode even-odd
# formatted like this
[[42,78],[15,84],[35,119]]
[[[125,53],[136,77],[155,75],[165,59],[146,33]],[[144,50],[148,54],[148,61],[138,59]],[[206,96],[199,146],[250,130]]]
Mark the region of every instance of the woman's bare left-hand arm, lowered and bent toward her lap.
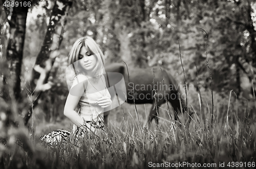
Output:
[[75,111],[76,106],[87,88],[87,77],[83,75],[78,75],[73,82],[73,86],[70,89],[69,95],[67,97],[64,115],[69,118],[76,126],[83,125],[83,119]]

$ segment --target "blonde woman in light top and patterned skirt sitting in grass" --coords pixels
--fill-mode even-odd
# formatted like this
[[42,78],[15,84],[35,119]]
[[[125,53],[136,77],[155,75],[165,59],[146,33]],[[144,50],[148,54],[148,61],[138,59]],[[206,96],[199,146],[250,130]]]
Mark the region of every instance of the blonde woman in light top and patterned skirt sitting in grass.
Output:
[[[102,75],[105,73],[104,55],[92,38],[83,37],[74,43],[68,62],[70,66],[66,70],[66,77],[69,95],[64,115],[74,123],[72,131],[76,138],[83,137],[86,131],[98,135],[104,131],[104,124],[108,124],[112,104]],[[76,111],[76,109],[79,110]],[[60,134],[63,130],[53,132],[51,133],[58,135],[56,132]],[[69,133],[67,135],[70,136]],[[66,138],[58,139],[49,134],[40,138],[41,140],[48,139],[46,142],[50,144],[60,142],[61,139],[66,140]]]

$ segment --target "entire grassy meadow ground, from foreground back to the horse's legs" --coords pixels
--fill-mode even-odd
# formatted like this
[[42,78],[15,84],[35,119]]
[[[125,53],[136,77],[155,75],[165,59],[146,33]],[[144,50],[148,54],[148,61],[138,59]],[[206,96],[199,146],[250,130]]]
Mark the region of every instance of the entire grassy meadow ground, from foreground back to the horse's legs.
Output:
[[67,119],[46,122],[39,119],[35,111],[34,135],[25,126],[8,130],[9,138],[4,146],[1,145],[0,167],[254,168],[256,123],[253,108],[243,106],[232,97],[232,92],[227,100],[218,100],[218,94],[213,93],[212,119],[210,93],[194,91],[195,103],[191,103],[190,108],[195,113],[190,123],[186,113],[179,116],[179,122],[174,122],[173,114],[169,114],[168,106],[164,105],[159,111],[159,124],[152,122],[148,126],[145,124],[150,106],[124,104],[111,112],[108,135],[88,134],[77,143],[81,145],[79,148],[70,142],[53,146],[42,143],[38,137],[48,132],[44,129],[68,129],[71,124]]

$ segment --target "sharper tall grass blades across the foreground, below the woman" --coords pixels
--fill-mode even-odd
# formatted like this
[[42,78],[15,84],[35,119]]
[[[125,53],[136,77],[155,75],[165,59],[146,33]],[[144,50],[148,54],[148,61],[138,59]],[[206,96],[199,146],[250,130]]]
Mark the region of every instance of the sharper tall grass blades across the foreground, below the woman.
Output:
[[[234,110],[234,109],[233,109]],[[226,114],[227,115],[227,114]],[[211,113],[205,112],[202,121],[195,112],[189,127],[161,118],[150,127],[140,130],[132,120],[120,127],[109,126],[108,135],[100,138],[88,133],[77,148],[67,142],[49,146],[19,138],[12,151],[2,154],[3,168],[148,168],[153,163],[220,163],[255,162],[256,124],[244,116],[232,121],[236,111],[229,109],[228,116],[214,121],[210,127]],[[184,122],[180,116],[181,122]],[[222,119],[222,120],[221,120]],[[206,126],[206,128],[205,128]],[[107,141],[108,140],[108,141]],[[27,146],[24,149],[24,146]],[[160,165],[160,164],[159,164]],[[190,168],[187,165],[184,168]],[[252,167],[252,165],[251,165]]]

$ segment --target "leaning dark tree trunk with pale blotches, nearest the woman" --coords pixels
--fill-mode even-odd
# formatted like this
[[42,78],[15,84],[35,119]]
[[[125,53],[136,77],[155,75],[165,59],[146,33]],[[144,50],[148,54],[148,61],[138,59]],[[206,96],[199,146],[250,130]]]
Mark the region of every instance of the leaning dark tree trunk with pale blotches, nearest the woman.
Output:
[[30,105],[29,110],[25,114],[25,125],[28,124],[32,116],[33,107],[37,105],[40,93],[52,87],[52,83],[47,81],[52,65],[58,55],[57,50],[62,41],[63,29],[67,22],[66,18],[71,5],[72,0],[57,0],[54,4],[44,43],[41,46],[32,71],[30,81],[32,105]]

